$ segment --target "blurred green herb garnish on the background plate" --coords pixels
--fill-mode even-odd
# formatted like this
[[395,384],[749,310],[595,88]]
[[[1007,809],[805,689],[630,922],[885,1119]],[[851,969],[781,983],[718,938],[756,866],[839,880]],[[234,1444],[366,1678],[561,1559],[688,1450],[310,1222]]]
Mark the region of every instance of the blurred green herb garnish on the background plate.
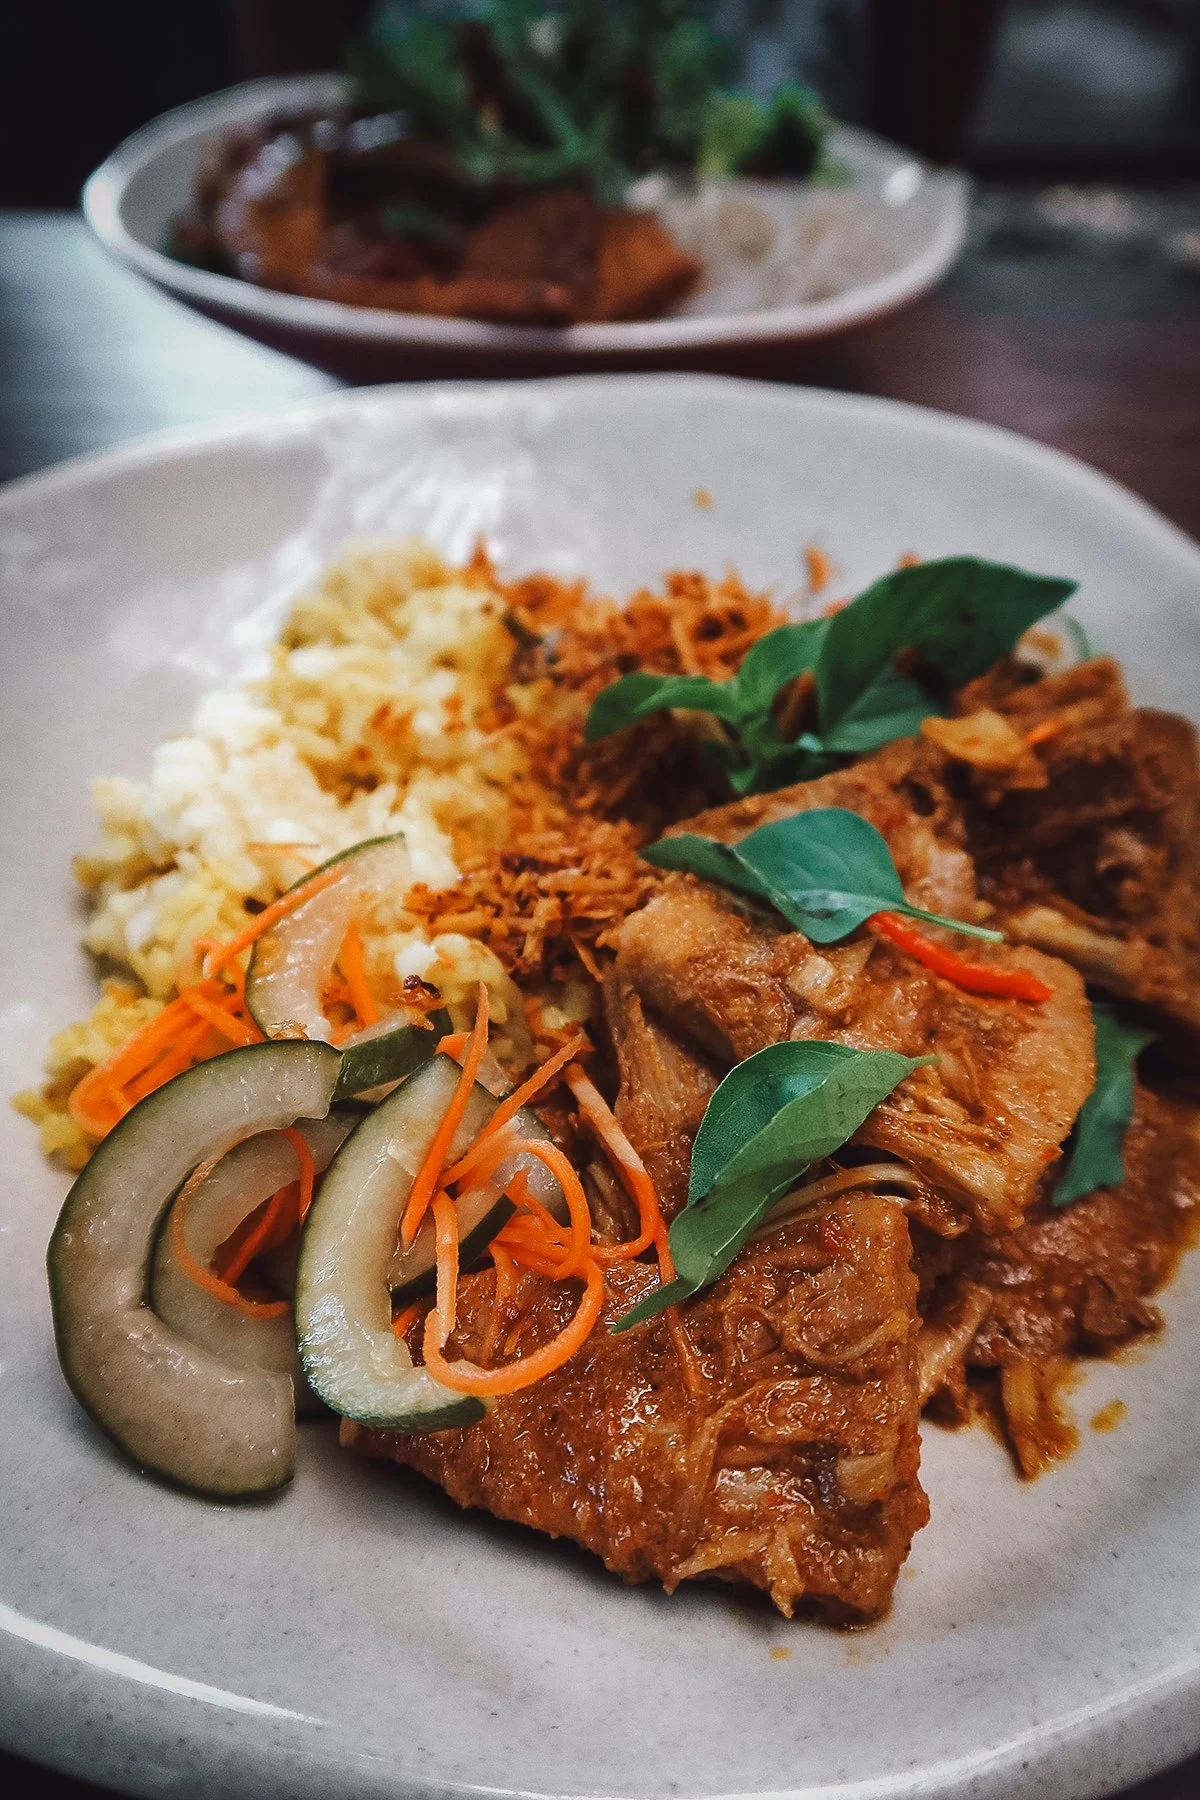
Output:
[[579,180],[617,205],[657,171],[829,173],[820,101],[732,88],[694,0],[385,0],[347,68],[356,104],[407,113],[480,184]]

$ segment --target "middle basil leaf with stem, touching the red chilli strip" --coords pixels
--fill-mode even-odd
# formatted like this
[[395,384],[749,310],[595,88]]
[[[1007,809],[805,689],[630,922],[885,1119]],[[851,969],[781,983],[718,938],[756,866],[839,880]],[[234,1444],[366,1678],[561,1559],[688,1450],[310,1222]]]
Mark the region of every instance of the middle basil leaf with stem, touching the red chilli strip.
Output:
[[837,943],[873,913],[905,913],[968,938],[1002,941],[999,931],[910,905],[887,839],[844,806],[815,806],[759,824],[738,844],[682,832],[649,844],[642,857],[660,869],[684,869],[766,900],[813,943]]

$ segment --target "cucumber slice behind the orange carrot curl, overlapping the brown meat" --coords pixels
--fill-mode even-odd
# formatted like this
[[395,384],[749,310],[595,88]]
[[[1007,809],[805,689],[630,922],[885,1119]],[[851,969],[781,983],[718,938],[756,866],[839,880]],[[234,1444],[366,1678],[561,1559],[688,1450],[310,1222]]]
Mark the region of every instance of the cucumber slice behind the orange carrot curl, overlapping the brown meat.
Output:
[[[482,1400],[453,1393],[426,1370],[414,1368],[408,1346],[392,1332],[389,1292],[405,1201],[459,1075],[450,1057],[434,1057],[363,1118],[335,1156],[300,1238],[295,1327],[304,1373],[326,1406],[365,1426],[443,1431],[484,1417]],[[495,1094],[477,1082],[450,1145],[452,1157],[462,1156],[473,1143],[497,1103]],[[522,1127],[534,1129],[533,1114],[522,1116]],[[536,1129],[542,1132],[540,1125]],[[495,1192],[484,1197],[484,1210],[491,1206],[493,1219],[500,1213],[500,1184],[513,1179],[515,1166],[516,1157],[502,1165]],[[543,1170],[543,1165],[536,1168]],[[538,1197],[545,1193],[547,1188],[540,1186]],[[482,1224],[477,1219],[470,1229]],[[417,1242],[408,1255],[416,1251]],[[430,1267],[432,1237],[426,1237],[419,1258],[412,1265],[401,1262],[401,1282],[428,1276]]]

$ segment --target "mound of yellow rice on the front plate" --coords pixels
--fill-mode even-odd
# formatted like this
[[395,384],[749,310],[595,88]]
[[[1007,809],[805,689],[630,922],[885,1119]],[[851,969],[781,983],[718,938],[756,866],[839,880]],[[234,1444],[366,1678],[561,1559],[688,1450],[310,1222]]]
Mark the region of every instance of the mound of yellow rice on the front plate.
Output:
[[[479,571],[455,572],[421,542],[354,544],[295,603],[264,677],[209,695],[144,781],[92,781],[83,941],[117,979],[50,1040],[47,1082],[14,1098],[47,1154],[81,1166],[74,1082],[196,979],[196,940],[239,931],[246,902],[365,837],[403,832],[414,880],[434,889],[459,877],[455,842],[504,841],[516,752],[484,718],[513,655],[506,599]],[[426,938],[392,902],[363,949],[376,979],[421,976],[452,1010],[486,981],[498,1053],[529,1060],[520,994],[484,943]],[[565,1006],[578,1010],[570,995]]]

